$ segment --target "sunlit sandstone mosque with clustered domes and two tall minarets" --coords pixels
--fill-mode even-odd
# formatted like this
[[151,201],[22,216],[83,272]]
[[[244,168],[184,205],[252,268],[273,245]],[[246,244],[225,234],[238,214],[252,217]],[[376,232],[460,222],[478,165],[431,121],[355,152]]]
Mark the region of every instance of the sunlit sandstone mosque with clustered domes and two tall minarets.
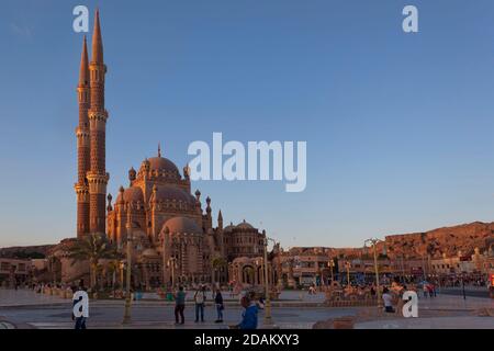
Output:
[[191,193],[187,166],[181,173],[158,146],[156,157],[145,159],[137,171],[131,168],[128,186],[120,188],[114,203],[111,194],[106,196],[105,72],[97,12],[92,59],[88,61],[85,38],[78,86],[78,237],[105,233],[122,251],[132,242],[134,284],[225,283],[228,262],[262,256],[266,234],[245,220],[223,228],[221,211],[213,226],[211,199],[205,199],[203,210],[201,192]]

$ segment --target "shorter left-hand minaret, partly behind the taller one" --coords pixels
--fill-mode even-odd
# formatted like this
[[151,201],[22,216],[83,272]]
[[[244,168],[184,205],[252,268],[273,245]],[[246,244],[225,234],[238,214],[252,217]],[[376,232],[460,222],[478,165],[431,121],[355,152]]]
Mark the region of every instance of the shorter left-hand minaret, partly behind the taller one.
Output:
[[88,46],[86,36],[82,43],[80,58],[79,86],[77,87],[79,102],[79,125],[76,128],[77,136],[77,237],[89,233],[89,186],[86,174],[90,168],[89,150],[89,65]]

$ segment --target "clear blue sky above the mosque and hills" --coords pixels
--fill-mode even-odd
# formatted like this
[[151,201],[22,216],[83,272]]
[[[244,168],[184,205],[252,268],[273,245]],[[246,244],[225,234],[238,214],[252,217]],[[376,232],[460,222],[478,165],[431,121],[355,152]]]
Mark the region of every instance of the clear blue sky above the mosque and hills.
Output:
[[[201,182],[285,247],[494,218],[494,2],[2,1],[0,246],[75,236],[72,9],[100,7],[109,191],[193,140],[306,140],[307,188]],[[419,33],[402,9],[419,10]],[[262,224],[260,224],[262,223]]]

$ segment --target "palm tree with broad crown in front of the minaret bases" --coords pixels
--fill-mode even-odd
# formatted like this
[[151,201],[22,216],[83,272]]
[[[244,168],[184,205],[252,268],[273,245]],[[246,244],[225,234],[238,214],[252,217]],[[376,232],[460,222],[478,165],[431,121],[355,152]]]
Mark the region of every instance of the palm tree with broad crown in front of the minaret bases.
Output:
[[117,257],[116,248],[110,244],[103,234],[91,234],[78,239],[69,249],[69,258],[76,261],[89,261],[89,274],[91,288],[97,287],[98,264],[101,259],[114,259]]

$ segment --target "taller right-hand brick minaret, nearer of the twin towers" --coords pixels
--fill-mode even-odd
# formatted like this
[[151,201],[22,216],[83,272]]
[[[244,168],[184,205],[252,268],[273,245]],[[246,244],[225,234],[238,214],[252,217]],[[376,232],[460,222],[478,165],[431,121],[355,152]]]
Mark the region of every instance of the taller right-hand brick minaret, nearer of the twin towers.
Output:
[[106,222],[106,184],[110,174],[105,169],[105,129],[108,112],[104,110],[103,41],[101,39],[100,13],[97,10],[94,31],[92,33],[92,59],[89,64],[90,100],[89,139],[91,167],[87,174],[89,182],[89,230],[105,233]]

